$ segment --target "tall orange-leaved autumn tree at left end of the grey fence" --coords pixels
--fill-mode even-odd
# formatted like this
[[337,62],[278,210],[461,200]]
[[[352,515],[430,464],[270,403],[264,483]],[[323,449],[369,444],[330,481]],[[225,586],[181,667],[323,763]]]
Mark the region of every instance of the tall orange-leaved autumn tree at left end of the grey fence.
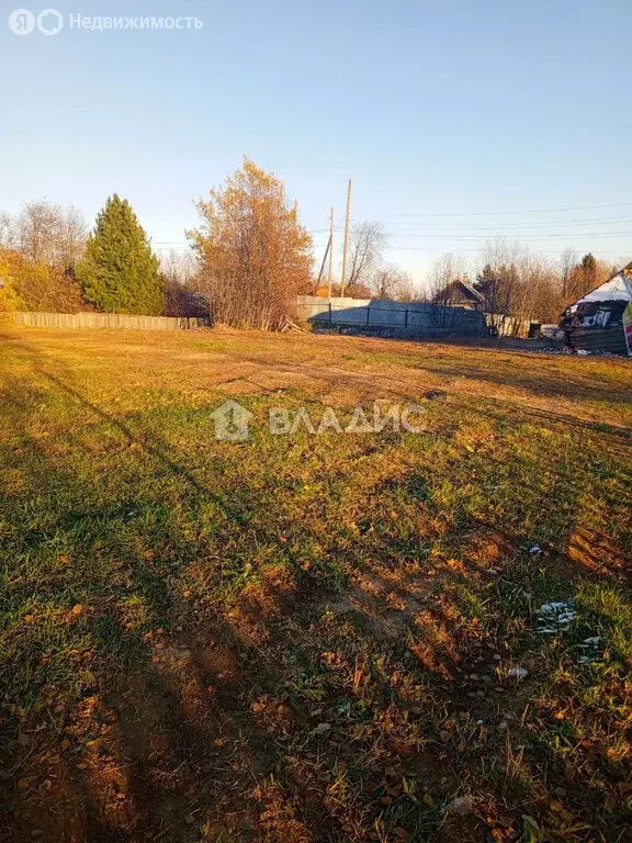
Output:
[[188,233],[200,257],[200,290],[216,322],[264,330],[292,315],[296,295],[313,290],[312,238],[296,203],[272,173],[249,158],[200,200],[202,227]]

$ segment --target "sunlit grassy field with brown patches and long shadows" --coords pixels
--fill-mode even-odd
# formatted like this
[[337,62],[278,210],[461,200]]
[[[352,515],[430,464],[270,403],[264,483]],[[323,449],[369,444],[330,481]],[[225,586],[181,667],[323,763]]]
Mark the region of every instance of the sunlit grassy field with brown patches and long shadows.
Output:
[[630,840],[631,436],[628,360],[0,327],[3,840]]

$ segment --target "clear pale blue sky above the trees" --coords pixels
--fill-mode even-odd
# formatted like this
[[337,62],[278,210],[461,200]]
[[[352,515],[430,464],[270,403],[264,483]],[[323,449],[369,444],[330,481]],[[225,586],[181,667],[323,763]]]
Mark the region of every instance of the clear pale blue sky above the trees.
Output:
[[[611,236],[632,232],[631,0],[49,2],[64,30],[19,37],[9,13],[46,4],[2,0],[2,210],[46,198],[91,221],[117,191],[181,244],[247,154],[318,246],[351,177],[353,218],[383,221],[418,280],[495,233],[632,258]],[[71,31],[78,11],[204,27]]]

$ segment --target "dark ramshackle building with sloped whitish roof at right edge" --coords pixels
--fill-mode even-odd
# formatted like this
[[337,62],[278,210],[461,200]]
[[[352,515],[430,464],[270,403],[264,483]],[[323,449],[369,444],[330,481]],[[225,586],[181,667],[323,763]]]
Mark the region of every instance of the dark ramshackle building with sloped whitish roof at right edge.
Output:
[[632,262],[573,302],[560,327],[574,351],[632,355]]

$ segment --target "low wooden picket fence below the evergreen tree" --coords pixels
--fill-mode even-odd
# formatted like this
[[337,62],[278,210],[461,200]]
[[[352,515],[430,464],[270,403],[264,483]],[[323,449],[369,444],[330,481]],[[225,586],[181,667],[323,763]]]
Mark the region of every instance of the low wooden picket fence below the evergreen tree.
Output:
[[126,316],[120,313],[13,313],[18,325],[34,328],[133,328],[137,330],[191,330],[208,326],[188,316]]

